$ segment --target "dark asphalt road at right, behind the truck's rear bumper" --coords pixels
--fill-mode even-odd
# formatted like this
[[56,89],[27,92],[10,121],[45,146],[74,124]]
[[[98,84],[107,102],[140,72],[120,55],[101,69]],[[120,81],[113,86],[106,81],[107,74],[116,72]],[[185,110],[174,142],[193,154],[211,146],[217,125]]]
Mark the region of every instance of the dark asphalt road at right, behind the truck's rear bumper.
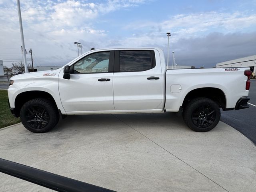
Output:
[[244,134],[256,145],[256,80],[251,80],[249,97],[250,108],[222,111],[220,120]]

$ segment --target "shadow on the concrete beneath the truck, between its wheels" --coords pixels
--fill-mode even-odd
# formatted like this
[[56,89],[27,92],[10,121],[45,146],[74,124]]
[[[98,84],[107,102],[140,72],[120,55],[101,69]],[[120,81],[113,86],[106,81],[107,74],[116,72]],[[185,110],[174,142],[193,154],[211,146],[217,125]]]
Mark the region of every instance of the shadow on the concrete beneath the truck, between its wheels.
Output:
[[148,128],[148,129],[185,129],[190,130],[176,113],[144,113],[144,114],[96,114],[70,115],[60,119],[51,132],[64,130],[92,131],[102,129]]

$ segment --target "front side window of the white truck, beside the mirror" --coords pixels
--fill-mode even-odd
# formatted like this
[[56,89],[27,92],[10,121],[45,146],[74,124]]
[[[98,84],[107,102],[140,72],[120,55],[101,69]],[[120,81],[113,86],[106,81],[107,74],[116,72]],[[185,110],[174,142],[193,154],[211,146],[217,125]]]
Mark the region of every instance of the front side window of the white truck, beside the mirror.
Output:
[[74,64],[73,73],[104,73],[108,72],[110,52],[90,54]]

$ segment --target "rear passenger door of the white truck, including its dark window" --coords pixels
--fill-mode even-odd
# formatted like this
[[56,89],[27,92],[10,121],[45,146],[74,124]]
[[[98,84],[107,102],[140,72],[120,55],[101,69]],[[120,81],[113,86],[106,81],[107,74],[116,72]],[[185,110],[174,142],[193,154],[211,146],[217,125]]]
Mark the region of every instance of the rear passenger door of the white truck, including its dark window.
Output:
[[116,50],[113,75],[115,110],[162,107],[162,71],[160,63],[158,65],[154,50]]

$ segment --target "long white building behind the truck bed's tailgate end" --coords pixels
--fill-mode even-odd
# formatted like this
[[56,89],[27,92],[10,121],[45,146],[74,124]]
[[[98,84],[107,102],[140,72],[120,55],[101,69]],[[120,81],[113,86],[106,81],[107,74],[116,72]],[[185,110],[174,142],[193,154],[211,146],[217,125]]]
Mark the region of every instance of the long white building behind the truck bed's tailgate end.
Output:
[[250,67],[252,76],[256,74],[256,55],[225,61],[216,64],[216,68],[223,67]]

